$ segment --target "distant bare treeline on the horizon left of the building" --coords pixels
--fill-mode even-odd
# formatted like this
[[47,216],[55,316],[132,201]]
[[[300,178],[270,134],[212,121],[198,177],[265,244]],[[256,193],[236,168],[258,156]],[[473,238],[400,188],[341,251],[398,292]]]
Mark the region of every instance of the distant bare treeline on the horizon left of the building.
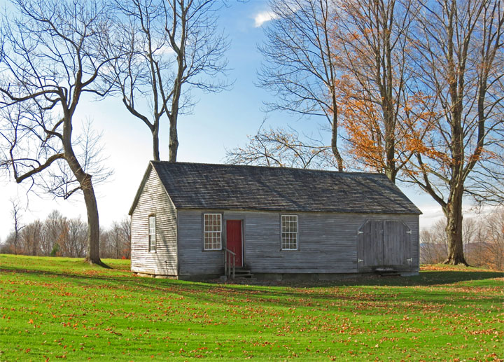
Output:
[[[87,223],[54,210],[44,221],[15,228],[0,244],[0,253],[84,258],[86,246]],[[130,258],[130,218],[114,221],[108,229],[100,230],[100,256]]]

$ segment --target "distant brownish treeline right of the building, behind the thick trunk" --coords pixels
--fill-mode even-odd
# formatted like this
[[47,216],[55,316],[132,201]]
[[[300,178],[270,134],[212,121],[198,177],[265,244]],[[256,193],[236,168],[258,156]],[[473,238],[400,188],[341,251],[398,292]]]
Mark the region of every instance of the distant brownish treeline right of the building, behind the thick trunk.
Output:
[[[446,221],[420,232],[420,263],[442,263],[448,256]],[[463,218],[465,260],[475,267],[504,270],[504,208],[477,218]]]

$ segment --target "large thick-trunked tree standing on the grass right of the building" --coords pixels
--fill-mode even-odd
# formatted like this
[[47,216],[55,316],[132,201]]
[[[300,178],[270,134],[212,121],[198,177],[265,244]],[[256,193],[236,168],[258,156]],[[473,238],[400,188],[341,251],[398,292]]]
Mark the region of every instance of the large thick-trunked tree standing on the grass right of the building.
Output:
[[[501,202],[503,32],[501,0],[423,1],[417,15],[414,62],[439,117],[409,164],[409,177],[440,204],[447,218],[444,261],[466,264],[462,204],[469,194]],[[481,185],[484,183],[484,186]],[[497,187],[493,187],[497,186]],[[489,192],[491,191],[491,192]]]

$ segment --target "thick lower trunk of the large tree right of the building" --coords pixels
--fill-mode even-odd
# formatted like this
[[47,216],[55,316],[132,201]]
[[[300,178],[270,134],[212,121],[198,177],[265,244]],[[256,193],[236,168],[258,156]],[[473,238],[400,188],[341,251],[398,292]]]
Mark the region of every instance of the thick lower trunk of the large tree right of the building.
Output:
[[447,218],[446,234],[448,242],[448,257],[444,260],[444,264],[468,265],[463,254],[462,196],[463,190],[457,188],[450,195],[446,207],[443,208],[444,215]]

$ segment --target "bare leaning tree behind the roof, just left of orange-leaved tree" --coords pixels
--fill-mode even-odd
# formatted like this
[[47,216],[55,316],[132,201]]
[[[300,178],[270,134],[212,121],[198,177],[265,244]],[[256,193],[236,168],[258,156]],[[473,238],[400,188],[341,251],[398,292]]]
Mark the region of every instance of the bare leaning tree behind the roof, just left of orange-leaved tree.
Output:
[[259,84],[276,97],[267,109],[300,116],[322,116],[331,130],[331,151],[339,171],[343,159],[337,146],[338,110],[335,53],[330,44],[331,1],[272,0],[271,25],[265,28],[265,57]]

